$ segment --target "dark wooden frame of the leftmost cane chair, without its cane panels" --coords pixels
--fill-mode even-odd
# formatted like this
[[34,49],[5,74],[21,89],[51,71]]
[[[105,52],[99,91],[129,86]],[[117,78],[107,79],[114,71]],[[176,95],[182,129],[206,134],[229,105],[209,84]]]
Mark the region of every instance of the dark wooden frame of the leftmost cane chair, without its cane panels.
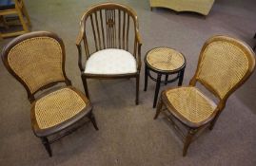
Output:
[[[30,92],[30,88],[29,88],[28,84],[25,83],[10,67],[10,64],[8,62],[8,56],[9,56],[10,50],[13,46],[16,46],[23,41],[26,41],[31,38],[36,38],[36,37],[49,37],[49,38],[56,40],[60,44],[61,49],[62,49],[62,72],[64,75],[64,80],[45,84],[45,85],[41,86],[40,88],[38,88],[35,92]],[[41,138],[42,143],[44,144],[46,150],[49,153],[49,157],[52,156],[50,144],[60,138],[63,138],[65,136],[69,135],[74,130],[76,130],[77,128],[82,126],[81,124],[80,125],[75,125],[75,124],[81,120],[84,120],[85,117],[88,117],[89,120],[92,122],[94,128],[96,130],[98,130],[96,120],[92,113],[92,105],[91,105],[90,101],[85,97],[85,95],[82,92],[80,92],[79,90],[77,90],[76,88],[71,86],[71,82],[69,81],[69,79],[66,75],[65,57],[66,57],[65,46],[64,46],[62,39],[59,38],[56,34],[54,34],[52,32],[48,32],[48,31],[35,31],[35,32],[30,32],[30,33],[21,35],[15,39],[13,39],[7,46],[4,47],[4,49],[2,51],[2,61],[3,61],[4,65],[7,67],[10,74],[19,83],[21,83],[27,90],[28,99],[31,103],[30,119],[31,119],[32,130],[36,137]],[[54,85],[57,83],[65,83],[66,85],[61,86],[61,87],[54,87]],[[53,89],[52,89],[52,87],[53,87]],[[72,117],[69,120],[65,120],[55,126],[52,126],[52,127],[46,128],[46,129],[40,129],[37,121],[35,120],[35,111],[34,111],[35,110],[35,102],[38,101],[39,99],[45,97],[49,93],[53,92],[54,90],[60,90],[65,87],[69,87],[74,92],[76,92],[81,97],[81,99],[83,101],[85,101],[87,106],[82,111],[80,111],[77,115],[75,115],[74,117]],[[51,89],[47,90],[49,88],[51,88]],[[38,97],[35,97],[35,95],[37,95],[39,91],[43,91],[43,93],[40,94]],[[60,133],[61,131],[64,131],[64,133],[57,137],[54,137],[55,134]],[[49,138],[48,138],[50,136],[53,136],[53,138],[51,140],[49,140]]]

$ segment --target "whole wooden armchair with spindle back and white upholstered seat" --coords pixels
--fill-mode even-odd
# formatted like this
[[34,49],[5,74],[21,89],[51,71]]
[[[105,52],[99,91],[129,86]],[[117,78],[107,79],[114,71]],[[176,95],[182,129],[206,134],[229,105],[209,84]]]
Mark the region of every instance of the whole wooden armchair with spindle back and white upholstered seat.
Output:
[[[87,97],[87,79],[136,78],[135,102],[138,104],[142,43],[136,13],[124,5],[104,3],[89,8],[80,26],[76,46]],[[82,41],[87,60],[85,65],[82,62]]]

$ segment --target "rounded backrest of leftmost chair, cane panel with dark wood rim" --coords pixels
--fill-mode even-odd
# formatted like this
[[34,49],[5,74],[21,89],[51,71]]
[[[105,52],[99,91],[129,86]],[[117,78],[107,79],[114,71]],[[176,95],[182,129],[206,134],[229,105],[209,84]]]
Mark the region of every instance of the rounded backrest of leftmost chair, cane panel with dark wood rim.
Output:
[[53,33],[37,31],[15,38],[3,49],[2,60],[25,86],[29,98],[51,83],[69,84],[64,71],[64,44]]

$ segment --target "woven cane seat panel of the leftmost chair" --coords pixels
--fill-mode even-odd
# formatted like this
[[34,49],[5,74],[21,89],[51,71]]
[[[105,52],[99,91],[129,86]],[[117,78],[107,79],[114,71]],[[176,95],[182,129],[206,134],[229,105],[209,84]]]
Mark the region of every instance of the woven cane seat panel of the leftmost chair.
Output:
[[69,120],[86,107],[85,101],[72,89],[63,88],[35,103],[35,118],[40,129]]

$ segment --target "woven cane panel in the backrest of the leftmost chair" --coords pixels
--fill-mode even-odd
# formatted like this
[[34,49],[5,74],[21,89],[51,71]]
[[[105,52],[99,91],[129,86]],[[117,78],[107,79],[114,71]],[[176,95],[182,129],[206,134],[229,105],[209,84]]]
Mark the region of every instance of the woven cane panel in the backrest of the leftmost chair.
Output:
[[34,37],[13,46],[8,62],[33,93],[48,83],[65,80],[62,54],[61,46],[56,40]]

